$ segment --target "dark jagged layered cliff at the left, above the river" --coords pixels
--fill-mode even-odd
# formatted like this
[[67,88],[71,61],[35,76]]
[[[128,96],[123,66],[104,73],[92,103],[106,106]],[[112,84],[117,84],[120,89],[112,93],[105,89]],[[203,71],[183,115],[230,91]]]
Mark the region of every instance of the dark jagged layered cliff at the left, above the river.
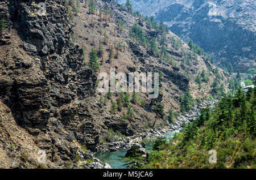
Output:
[[11,43],[0,49],[0,97],[16,124],[32,135],[38,148],[46,149],[56,167],[75,158],[78,134],[84,144],[97,143],[93,127],[88,134],[94,136],[86,141],[93,120],[82,102],[94,96],[96,76],[71,40],[65,1],[43,2],[46,16],[38,14],[38,2],[1,2],[0,19],[9,24]]

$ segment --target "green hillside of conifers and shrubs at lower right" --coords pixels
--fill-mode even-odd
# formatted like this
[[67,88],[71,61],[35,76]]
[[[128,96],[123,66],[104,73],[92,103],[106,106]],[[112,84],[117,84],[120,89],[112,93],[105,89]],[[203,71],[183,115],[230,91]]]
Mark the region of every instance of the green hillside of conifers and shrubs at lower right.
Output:
[[[151,151],[143,168],[255,169],[255,89],[246,96],[240,89],[222,97],[216,108],[201,109],[182,132]],[[208,161],[210,149],[217,151],[216,164]]]

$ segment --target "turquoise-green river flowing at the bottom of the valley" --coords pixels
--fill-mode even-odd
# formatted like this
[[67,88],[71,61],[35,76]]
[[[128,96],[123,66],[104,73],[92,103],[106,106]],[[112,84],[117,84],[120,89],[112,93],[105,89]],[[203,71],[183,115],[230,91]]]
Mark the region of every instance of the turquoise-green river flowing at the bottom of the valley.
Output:
[[[179,130],[167,132],[164,134],[167,140],[171,139],[175,133],[179,132]],[[156,138],[142,140],[146,144],[146,151],[150,152],[152,149],[152,145],[154,144]],[[121,149],[114,152],[102,152],[94,155],[99,158],[103,163],[108,163],[113,169],[128,169],[129,167],[126,165],[126,162],[123,160],[125,154],[128,149]]]

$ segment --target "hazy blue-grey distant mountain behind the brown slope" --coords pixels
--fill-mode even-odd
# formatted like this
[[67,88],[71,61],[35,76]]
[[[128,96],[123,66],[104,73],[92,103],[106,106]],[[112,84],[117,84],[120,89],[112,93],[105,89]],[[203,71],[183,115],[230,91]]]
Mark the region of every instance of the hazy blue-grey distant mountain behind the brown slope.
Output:
[[[118,1],[125,3],[125,0]],[[132,0],[134,11],[154,16],[183,40],[193,40],[222,67],[256,67],[256,1]]]

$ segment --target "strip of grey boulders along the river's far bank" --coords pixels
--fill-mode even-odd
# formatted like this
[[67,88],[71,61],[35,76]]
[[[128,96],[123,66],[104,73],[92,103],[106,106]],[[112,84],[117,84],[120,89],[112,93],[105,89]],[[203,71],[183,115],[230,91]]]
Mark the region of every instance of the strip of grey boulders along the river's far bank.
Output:
[[200,112],[201,108],[205,108],[208,105],[209,106],[214,105],[217,102],[218,100],[207,101],[194,106],[191,109],[190,113],[180,115],[179,117],[176,118],[176,121],[168,127],[164,127],[164,128],[157,127],[155,129],[151,129],[146,134],[137,134],[134,136],[128,136],[126,138],[120,138],[117,142],[98,144],[96,148],[96,152],[94,152],[94,154],[100,153],[100,152],[113,152],[121,149],[129,149],[132,144],[141,142],[144,139],[157,138],[157,137],[163,136],[167,132],[180,130],[183,122],[191,122],[197,118],[197,114]]

